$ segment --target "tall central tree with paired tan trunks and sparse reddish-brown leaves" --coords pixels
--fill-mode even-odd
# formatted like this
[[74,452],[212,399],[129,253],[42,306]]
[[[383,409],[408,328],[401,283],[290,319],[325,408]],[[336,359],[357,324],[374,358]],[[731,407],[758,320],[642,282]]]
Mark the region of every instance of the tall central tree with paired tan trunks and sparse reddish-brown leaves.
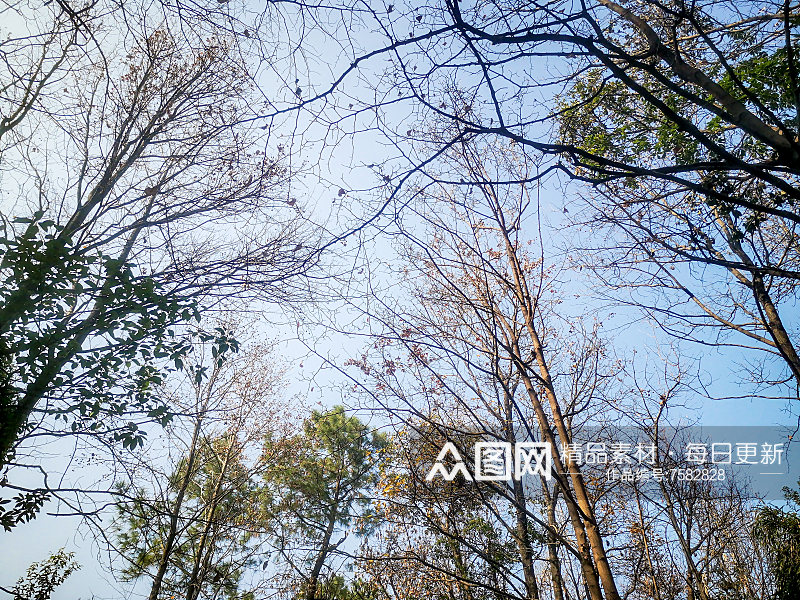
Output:
[[[413,282],[408,292],[416,306],[395,308],[388,298],[381,300],[385,314],[368,312],[372,326],[379,322],[385,329],[377,334],[375,356],[370,360],[367,354],[351,364],[375,378],[372,393],[382,405],[387,394],[395,399],[397,406],[388,408],[407,427],[419,429],[402,417],[408,411],[443,439],[472,432],[511,443],[538,439],[558,450],[572,443],[574,427],[591,411],[601,410],[599,390],[614,367],[603,372],[602,344],[591,331],[584,338],[575,324],[561,321],[551,269],[544,256],[531,255],[525,248],[519,223],[530,202],[528,190],[524,185],[498,186],[489,174],[518,168],[514,158],[506,149],[482,154],[464,144],[452,149],[447,159],[452,172],[469,185],[449,185],[444,175],[414,190],[414,202],[406,205],[398,232],[407,242],[402,273]],[[569,331],[564,337],[558,334],[562,325]],[[394,355],[395,347],[404,353]],[[546,485],[552,505],[559,503],[558,517],[552,514],[553,506],[549,517],[531,510],[523,487],[511,483],[492,488],[498,500],[479,502],[516,545],[521,571],[511,575],[479,553],[489,571],[507,581],[493,589],[487,583],[491,578],[456,570],[457,580],[465,580],[470,588],[488,586],[488,593],[501,593],[516,580],[524,597],[538,598],[541,583],[534,563],[545,560],[556,569],[550,570],[549,580],[563,595],[557,549],[544,558],[545,544],[534,548],[530,528],[538,527],[540,539],[547,532],[579,566],[578,593],[583,594],[585,586],[592,598],[618,594],[594,491],[569,453],[555,451],[553,460],[554,481]],[[408,463],[414,463],[413,457]],[[431,495],[435,503],[436,492]],[[513,516],[501,517],[508,513],[500,505]],[[555,523],[562,509],[569,537]],[[440,533],[453,538],[452,520],[445,523],[450,531],[442,532],[439,526]],[[479,544],[468,546],[475,552]]]

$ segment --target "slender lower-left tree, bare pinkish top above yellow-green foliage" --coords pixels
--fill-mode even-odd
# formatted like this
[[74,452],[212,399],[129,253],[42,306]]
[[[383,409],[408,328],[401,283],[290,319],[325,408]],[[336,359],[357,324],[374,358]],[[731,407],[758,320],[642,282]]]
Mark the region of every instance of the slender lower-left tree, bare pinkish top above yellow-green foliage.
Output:
[[273,528],[260,478],[280,457],[261,450],[291,427],[283,375],[265,347],[230,356],[207,346],[173,392],[184,416],[117,490],[113,564],[123,580],[149,580],[151,600],[253,593],[246,573],[264,561]]

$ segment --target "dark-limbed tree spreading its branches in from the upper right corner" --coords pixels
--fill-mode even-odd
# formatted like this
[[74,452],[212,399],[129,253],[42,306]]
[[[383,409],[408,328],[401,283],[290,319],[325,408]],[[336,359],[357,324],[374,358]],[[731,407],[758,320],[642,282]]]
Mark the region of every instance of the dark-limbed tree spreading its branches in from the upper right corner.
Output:
[[[385,135],[390,150],[372,164],[383,210],[461,141],[516,143],[537,165],[528,181],[590,184],[577,188],[593,209],[583,220],[611,229],[588,245],[603,250],[616,300],[678,337],[765,351],[757,383],[797,397],[795,4],[305,9],[347,61],[296,104],[330,127]],[[326,32],[341,16],[347,29]]]

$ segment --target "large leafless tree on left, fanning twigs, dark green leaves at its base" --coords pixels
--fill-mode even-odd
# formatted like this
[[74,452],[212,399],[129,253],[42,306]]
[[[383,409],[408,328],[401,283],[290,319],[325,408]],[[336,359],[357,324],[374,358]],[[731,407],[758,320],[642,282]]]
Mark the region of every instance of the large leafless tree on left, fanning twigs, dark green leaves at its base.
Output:
[[115,415],[163,416],[148,390],[186,350],[171,328],[222,296],[307,297],[322,234],[253,122],[247,50],[214,19],[5,10],[40,31],[3,43],[2,461],[63,424],[135,446]]

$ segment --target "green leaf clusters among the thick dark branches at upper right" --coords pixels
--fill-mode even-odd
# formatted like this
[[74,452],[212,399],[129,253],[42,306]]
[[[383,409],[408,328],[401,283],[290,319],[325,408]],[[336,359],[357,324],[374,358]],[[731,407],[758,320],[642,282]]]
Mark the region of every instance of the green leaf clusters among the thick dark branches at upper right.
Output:
[[[800,48],[796,53],[797,50]],[[797,124],[795,91],[785,47],[767,51],[756,46],[753,52],[742,49],[729,56],[735,75],[721,69],[716,61],[705,64],[699,57],[695,60],[710,78],[718,79],[719,85],[749,110],[756,114],[767,110],[786,123]],[[796,67],[800,69],[800,62]],[[770,186],[743,187],[738,172],[729,168],[727,158],[701,145],[687,132],[681,119],[744,163],[760,164],[775,159],[766,144],[731,127],[710,110],[713,98],[705,99],[706,104],[687,99],[644,70],[632,69],[628,75],[640,89],[632,89],[603,69],[595,68],[578,78],[559,100],[561,141],[589,155],[569,157],[579,172],[593,172],[600,179],[610,175],[609,182],[616,174],[624,173],[621,189],[646,189],[653,183],[647,170],[667,169],[732,200],[741,198],[770,208],[789,201],[786,194]],[[664,114],[653,101],[645,100],[646,96],[663,103],[674,116]],[[616,165],[609,165],[603,159]],[[723,168],[714,169],[714,163]],[[637,171],[629,172],[625,165],[634,165]],[[765,219],[760,211],[742,209],[738,202],[727,203],[718,197],[705,201],[720,214],[740,219],[741,231],[733,234],[740,238],[756,231]]]

